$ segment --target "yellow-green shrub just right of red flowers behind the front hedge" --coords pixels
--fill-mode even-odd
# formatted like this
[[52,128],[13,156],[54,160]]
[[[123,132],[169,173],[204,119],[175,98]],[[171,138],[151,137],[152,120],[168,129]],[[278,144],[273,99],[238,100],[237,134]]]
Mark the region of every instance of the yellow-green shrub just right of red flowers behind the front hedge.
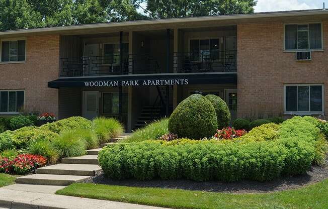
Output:
[[259,127],[252,129],[247,135],[254,136],[259,139],[259,141],[275,140],[278,137],[279,125],[270,123],[263,124]]

